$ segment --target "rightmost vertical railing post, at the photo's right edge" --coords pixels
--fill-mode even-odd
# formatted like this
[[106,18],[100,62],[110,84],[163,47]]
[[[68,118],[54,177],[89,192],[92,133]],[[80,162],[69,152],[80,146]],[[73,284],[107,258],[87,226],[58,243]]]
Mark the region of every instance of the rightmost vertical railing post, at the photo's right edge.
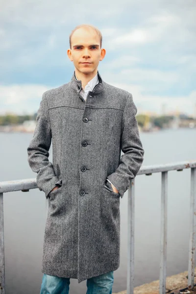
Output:
[[190,201],[190,239],[189,239],[189,267],[188,288],[194,288],[195,276],[195,248],[196,248],[196,168],[191,169],[191,201]]

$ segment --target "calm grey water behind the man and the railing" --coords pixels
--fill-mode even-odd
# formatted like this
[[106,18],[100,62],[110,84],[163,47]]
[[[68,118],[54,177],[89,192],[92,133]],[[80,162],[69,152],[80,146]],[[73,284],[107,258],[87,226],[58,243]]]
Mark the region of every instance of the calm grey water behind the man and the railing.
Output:
[[[32,134],[0,133],[0,181],[35,178],[27,162]],[[141,133],[143,165],[196,160],[196,129]],[[51,150],[51,148],[50,148]],[[51,152],[51,151],[50,151]],[[51,161],[51,153],[49,156]],[[188,270],[190,169],[168,174],[167,276]],[[135,285],[159,279],[161,174],[135,179]],[[39,294],[46,199],[38,189],[4,194],[6,294]],[[121,264],[113,292],[126,289],[127,192],[121,199]],[[85,294],[86,281],[71,279],[70,294]]]

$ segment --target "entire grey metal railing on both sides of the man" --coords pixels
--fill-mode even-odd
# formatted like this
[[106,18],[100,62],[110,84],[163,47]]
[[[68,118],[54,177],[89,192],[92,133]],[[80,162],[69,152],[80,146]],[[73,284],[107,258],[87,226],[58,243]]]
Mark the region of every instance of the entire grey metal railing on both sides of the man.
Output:
[[[160,238],[160,276],[159,294],[166,293],[167,263],[167,203],[168,203],[168,172],[191,169],[191,204],[190,204],[190,241],[188,288],[194,288],[195,276],[195,245],[196,245],[196,161],[178,162],[166,165],[143,166],[137,175],[151,175],[161,172],[161,238]],[[0,182],[0,294],[5,294],[5,262],[4,262],[4,226],[3,226],[3,193],[38,188],[36,179],[25,179]],[[130,181],[128,189],[128,253],[127,253],[127,294],[134,289],[134,220],[135,220],[135,179]],[[48,206],[48,199],[47,206]]]

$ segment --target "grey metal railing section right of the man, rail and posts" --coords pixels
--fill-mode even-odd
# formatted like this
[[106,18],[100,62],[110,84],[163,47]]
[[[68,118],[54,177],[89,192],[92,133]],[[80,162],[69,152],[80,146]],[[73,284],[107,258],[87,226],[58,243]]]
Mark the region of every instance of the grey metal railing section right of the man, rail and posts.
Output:
[[[190,241],[188,288],[194,288],[195,275],[195,244],[196,244],[196,161],[177,162],[165,165],[144,166],[137,175],[151,175],[161,172],[161,238],[160,238],[160,274],[159,294],[166,293],[167,264],[167,203],[168,203],[168,172],[191,169],[191,205],[190,205]],[[128,189],[128,263],[127,263],[127,294],[134,289],[134,213],[135,213],[135,180],[130,181]]]

